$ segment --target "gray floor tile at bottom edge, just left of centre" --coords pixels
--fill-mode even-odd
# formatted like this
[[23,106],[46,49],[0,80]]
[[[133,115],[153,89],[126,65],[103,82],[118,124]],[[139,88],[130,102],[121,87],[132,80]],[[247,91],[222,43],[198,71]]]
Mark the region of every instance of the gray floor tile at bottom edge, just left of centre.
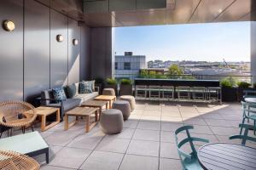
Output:
[[90,170],[118,170],[124,154],[94,151],[84,161],[80,169]]

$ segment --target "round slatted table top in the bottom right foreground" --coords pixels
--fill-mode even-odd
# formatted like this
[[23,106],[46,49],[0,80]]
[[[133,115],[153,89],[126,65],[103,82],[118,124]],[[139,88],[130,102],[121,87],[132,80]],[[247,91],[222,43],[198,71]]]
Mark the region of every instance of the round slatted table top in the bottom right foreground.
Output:
[[198,150],[198,161],[203,169],[255,170],[256,149],[240,144],[206,144]]

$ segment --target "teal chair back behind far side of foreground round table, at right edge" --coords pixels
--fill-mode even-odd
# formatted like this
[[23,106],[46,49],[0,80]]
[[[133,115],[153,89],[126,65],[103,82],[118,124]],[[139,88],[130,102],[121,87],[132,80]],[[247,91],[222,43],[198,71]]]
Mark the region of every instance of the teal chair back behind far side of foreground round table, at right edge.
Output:
[[253,129],[255,130],[256,127],[253,126],[253,125],[247,125],[247,124],[240,124],[239,127],[244,128],[244,133],[243,135],[239,134],[239,135],[234,135],[234,136],[230,136],[230,139],[241,139],[241,145],[245,145],[247,140],[250,140],[250,141],[253,141],[253,142],[256,142],[256,138],[253,138],[253,137],[250,137],[248,136],[248,131],[250,129]]

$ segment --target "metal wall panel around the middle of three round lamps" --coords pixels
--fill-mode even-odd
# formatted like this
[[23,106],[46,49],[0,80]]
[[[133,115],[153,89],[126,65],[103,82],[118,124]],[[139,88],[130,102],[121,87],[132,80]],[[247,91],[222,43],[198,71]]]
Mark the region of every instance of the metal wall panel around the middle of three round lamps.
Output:
[[[61,34],[63,42],[57,42]],[[67,84],[67,16],[50,11],[50,87],[61,87]]]

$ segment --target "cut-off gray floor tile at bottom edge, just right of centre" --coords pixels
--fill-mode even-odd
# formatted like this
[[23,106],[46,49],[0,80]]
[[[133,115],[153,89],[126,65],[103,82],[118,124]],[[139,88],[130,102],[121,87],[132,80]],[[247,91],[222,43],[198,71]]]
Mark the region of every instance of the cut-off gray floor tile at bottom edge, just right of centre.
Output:
[[125,155],[119,170],[157,170],[159,158]]

